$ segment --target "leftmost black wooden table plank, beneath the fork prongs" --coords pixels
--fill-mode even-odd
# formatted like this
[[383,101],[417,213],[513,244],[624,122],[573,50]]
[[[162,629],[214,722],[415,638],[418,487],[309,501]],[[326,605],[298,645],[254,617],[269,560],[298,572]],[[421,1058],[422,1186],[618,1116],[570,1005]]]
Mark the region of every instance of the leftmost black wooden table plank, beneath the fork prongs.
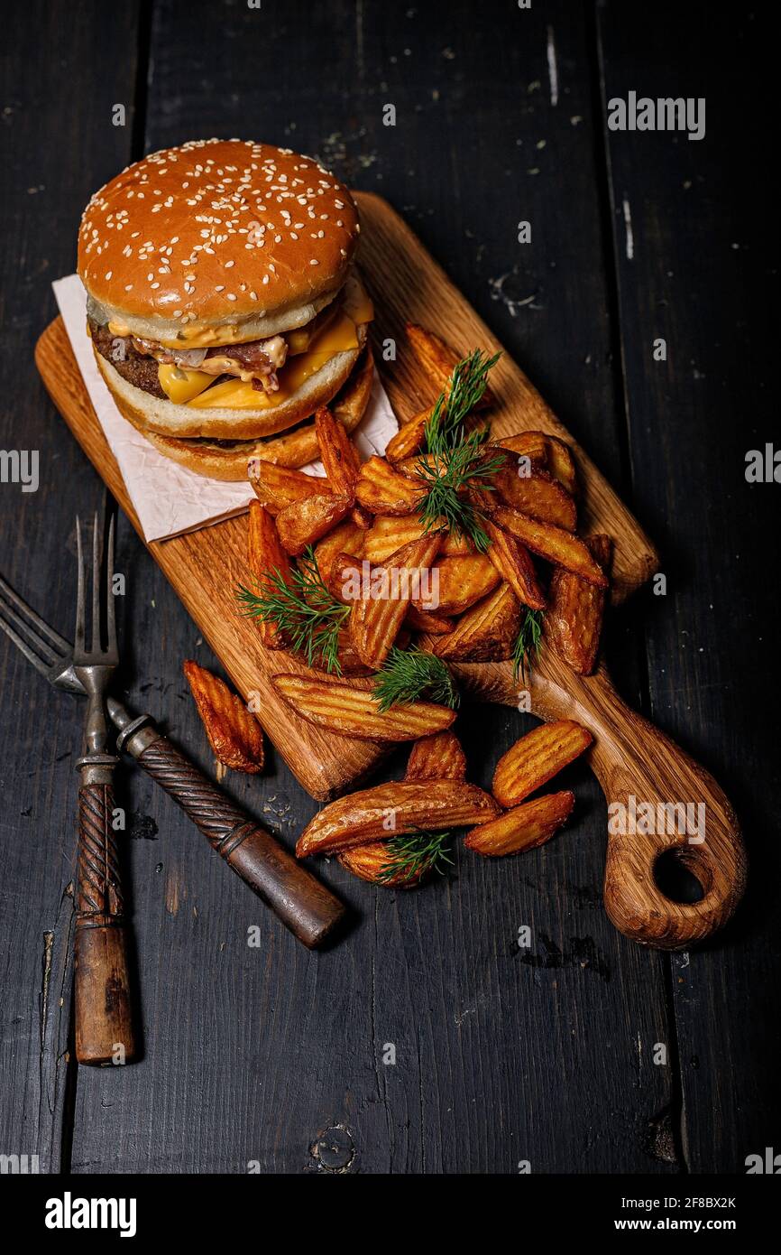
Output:
[[[31,0],[4,11],[6,161],[0,188],[4,351],[0,448],[38,451],[39,487],[0,484],[0,571],[60,630],[73,631],[74,516],[103,487],[51,407],[33,346],[54,310],[50,282],[73,267],[90,193],[130,156],[138,5],[69,6]],[[124,102],[127,124],[112,110]],[[120,555],[124,560],[124,555]],[[76,703],[0,638],[4,976],[0,1148],[38,1155],[41,1172],[66,1166],[70,1013],[69,882],[75,855]]]

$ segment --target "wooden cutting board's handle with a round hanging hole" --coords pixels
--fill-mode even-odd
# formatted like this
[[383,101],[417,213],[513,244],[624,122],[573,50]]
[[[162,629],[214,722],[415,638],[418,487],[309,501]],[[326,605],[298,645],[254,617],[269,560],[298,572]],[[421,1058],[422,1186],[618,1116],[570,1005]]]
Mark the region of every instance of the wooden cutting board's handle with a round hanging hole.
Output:
[[[705,940],[727,922],[746,885],[730,801],[700,763],[623,702],[604,668],[568,673],[564,688],[564,664],[549,655],[545,661],[547,653],[528,681],[533,712],[545,720],[575,719],[594,734],[590,766],[608,802],[608,916],[633,941],[662,950]],[[456,670],[481,698],[518,707],[522,685],[509,664]],[[702,889],[698,902],[673,901],[659,887],[662,855],[692,872]]]

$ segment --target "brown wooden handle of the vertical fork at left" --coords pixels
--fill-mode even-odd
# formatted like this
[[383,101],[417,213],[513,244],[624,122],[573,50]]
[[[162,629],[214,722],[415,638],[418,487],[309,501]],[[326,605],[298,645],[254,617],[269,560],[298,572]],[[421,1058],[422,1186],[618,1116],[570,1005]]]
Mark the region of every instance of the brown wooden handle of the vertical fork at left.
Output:
[[135,1054],[113,813],[110,784],[81,784],[74,985],[76,1059],[88,1064]]

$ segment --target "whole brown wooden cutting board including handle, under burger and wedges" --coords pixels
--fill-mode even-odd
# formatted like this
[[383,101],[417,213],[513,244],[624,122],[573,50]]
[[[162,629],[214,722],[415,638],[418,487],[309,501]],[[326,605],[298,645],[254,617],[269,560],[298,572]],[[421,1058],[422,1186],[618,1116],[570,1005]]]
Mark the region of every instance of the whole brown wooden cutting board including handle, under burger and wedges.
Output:
[[[478,346],[495,351],[501,345],[387,202],[369,193],[357,193],[356,198],[362,218],[360,266],[376,309],[375,358],[391,403],[404,419],[430,404],[436,394],[436,387],[405,344],[405,323],[438,331],[461,351]],[[387,341],[396,346],[391,361],[382,351]],[[140,535],[61,319],[41,335],[35,360],[70,430]],[[495,434],[537,429],[559,435],[572,447],[583,493],[579,530],[613,537],[612,596],[613,601],[623,600],[657,570],[651,541],[504,350],[491,373],[491,388],[499,398],[491,412]],[[148,548],[239,693],[246,699],[251,693],[259,694],[261,722],[291,771],[312,797],[325,801],[355,786],[385,752],[380,745],[312,727],[277,697],[270,683],[272,675],[306,674],[307,668],[286,654],[265,650],[252,620],[237,614],[234,589],[247,576],[246,540],[243,516],[155,541]],[[476,697],[518,704],[518,684],[513,683],[509,664],[475,664],[458,670]],[[628,710],[604,670],[583,679],[544,650],[529,689],[532,709],[542,718],[570,717],[592,727],[597,735],[592,766],[608,801],[632,792],[637,798],[673,803],[703,801],[715,817],[706,843],[698,846],[669,835],[643,841],[611,837],[605,905],[616,925],[636,940],[658,946],[681,946],[718,927],[740,899],[745,875],[735,816],[718,786],[672,742]],[[657,855],[671,845],[701,880],[706,891],[701,902],[672,904],[656,886]]]

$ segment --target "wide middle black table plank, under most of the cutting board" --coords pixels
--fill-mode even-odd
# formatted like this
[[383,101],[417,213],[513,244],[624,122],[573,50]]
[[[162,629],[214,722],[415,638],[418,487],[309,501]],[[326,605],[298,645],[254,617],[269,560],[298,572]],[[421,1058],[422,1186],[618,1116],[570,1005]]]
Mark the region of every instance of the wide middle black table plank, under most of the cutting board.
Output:
[[[463,0],[410,13],[295,0],[271,20],[267,6],[236,6],[229,19],[208,9],[183,26],[178,6],[157,4],[147,147],[253,131],[389,195],[618,479],[580,15],[494,0],[479,24]],[[397,103],[396,128],[382,125],[386,100]],[[542,176],[524,173],[534,163]],[[514,242],[520,216],[538,225],[532,254]],[[505,297],[525,297],[529,282],[543,307],[513,315],[493,300],[504,271]],[[208,651],[138,550],[133,577],[130,665],[154,688],[132,698],[173,718],[203,764],[178,663],[194,650],[208,664]],[[488,782],[528,720],[470,707],[460,724],[470,773]],[[292,845],[313,807],[276,766],[228,786]],[[569,778],[578,822],[528,858],[456,853],[458,880],[416,894],[320,867],[360,915],[323,955],[305,954],[216,860],[201,861],[199,838],[137,778],[138,808],[160,822],[160,841],[139,842],[137,856],[147,1055],[119,1077],[79,1078],[74,1168],[246,1171],[254,1161],[270,1172],[513,1172],[525,1158],[535,1172],[674,1168],[669,1071],[651,1063],[666,1037],[663,961],[605,920],[604,811],[585,769]],[[247,946],[249,924],[259,949]],[[524,925],[528,949],[518,945]],[[395,1064],[384,1062],[389,1045]]]

